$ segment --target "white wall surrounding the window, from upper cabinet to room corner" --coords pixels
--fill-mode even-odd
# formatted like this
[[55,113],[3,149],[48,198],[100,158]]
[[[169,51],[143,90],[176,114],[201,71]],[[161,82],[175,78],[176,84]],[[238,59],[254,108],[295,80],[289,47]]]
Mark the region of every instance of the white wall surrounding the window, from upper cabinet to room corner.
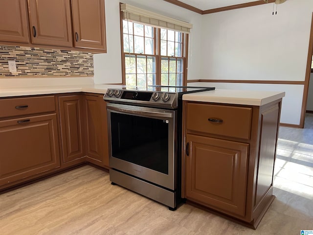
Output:
[[[122,0],[133,6],[193,24],[188,50],[188,79],[201,77],[201,15],[163,0]],[[94,83],[121,83],[119,0],[106,0],[107,53],[95,54]]]

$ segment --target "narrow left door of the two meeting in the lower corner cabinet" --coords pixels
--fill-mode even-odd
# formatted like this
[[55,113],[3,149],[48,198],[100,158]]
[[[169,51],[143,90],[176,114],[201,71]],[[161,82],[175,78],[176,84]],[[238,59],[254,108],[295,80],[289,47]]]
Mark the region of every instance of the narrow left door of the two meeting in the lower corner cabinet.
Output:
[[82,140],[82,107],[81,95],[59,97],[63,163],[85,156]]

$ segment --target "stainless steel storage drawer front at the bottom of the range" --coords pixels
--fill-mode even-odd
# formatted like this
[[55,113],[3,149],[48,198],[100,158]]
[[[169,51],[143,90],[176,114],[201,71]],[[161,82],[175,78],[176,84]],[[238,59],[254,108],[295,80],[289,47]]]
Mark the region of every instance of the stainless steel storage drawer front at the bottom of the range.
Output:
[[110,181],[122,187],[131,189],[171,208],[176,207],[176,192],[159,188],[140,179],[110,169]]

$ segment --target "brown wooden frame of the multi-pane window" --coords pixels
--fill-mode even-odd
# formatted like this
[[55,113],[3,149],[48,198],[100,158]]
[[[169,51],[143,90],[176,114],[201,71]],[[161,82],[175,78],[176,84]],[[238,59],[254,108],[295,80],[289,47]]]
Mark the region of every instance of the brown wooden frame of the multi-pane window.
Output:
[[[136,24],[142,24],[142,23],[136,23]],[[145,25],[145,24],[143,24]],[[160,39],[160,28],[154,27],[154,54],[136,54],[136,53],[128,53],[124,52],[124,32],[123,32],[123,16],[122,11],[120,11],[120,35],[121,35],[121,60],[122,60],[122,85],[126,85],[126,65],[125,65],[125,55],[142,55],[142,56],[154,56],[156,57],[156,84],[155,85],[161,85],[161,59],[162,57],[168,57],[171,58],[172,56],[162,56],[160,55],[161,51],[161,39]],[[169,29],[168,29],[169,30]],[[173,30],[174,31],[174,30]],[[183,63],[182,68],[182,84],[181,86],[187,85],[187,66],[188,66],[188,44],[189,44],[189,35],[188,33],[182,33],[182,56],[176,57],[173,56],[173,58],[181,58]],[[177,71],[176,71],[176,74]],[[168,78],[169,79],[169,78]],[[176,77],[176,83],[177,83],[177,77]]]

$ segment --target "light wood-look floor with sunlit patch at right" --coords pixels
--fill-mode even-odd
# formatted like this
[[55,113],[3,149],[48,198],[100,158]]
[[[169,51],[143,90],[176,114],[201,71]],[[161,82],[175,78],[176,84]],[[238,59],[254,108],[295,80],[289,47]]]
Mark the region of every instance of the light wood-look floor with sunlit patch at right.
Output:
[[86,165],[0,194],[0,235],[298,235],[313,230],[313,139],[305,138],[313,135],[313,115],[309,119],[312,126],[303,130],[280,130],[276,199],[257,230],[188,204],[169,211],[112,186],[107,172]]

